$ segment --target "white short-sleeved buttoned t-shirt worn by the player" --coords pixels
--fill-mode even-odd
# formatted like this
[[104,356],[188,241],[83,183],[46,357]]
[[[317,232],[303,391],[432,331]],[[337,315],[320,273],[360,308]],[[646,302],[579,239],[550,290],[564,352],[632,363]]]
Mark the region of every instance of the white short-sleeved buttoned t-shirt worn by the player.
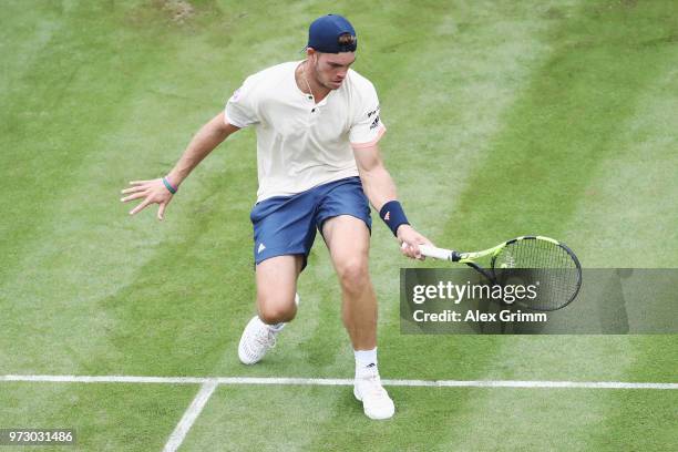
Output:
[[257,131],[257,202],[357,176],[353,150],[376,144],[386,132],[369,80],[349,69],[341,86],[315,104],[297,86],[300,63],[248,76],[226,104],[227,123]]

